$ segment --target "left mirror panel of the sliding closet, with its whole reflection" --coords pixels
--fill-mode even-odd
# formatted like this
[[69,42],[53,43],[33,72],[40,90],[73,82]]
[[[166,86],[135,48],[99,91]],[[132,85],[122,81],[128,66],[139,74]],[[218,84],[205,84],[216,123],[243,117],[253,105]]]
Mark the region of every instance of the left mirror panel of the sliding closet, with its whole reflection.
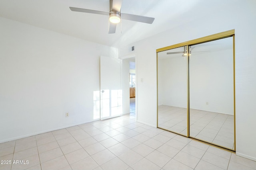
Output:
[[158,52],[158,127],[187,136],[186,47]]

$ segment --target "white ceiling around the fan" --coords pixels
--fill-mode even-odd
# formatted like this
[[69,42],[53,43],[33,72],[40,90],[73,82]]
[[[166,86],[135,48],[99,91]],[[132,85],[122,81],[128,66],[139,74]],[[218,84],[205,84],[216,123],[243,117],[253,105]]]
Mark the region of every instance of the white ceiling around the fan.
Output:
[[[213,14],[230,0],[123,0],[121,12],[154,17],[152,24],[122,20],[108,34],[108,16],[72,12],[69,7],[109,11],[109,0],[0,0],[0,17],[120,47]],[[211,8],[209,8],[209,6]],[[189,16],[189,17],[188,17]]]

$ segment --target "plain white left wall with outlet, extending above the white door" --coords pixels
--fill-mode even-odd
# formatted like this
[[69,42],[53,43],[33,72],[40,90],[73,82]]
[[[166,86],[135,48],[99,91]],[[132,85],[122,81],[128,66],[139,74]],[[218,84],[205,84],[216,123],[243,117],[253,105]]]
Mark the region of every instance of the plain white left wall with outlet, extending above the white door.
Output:
[[0,25],[0,143],[94,121],[99,57],[117,49],[5,18]]

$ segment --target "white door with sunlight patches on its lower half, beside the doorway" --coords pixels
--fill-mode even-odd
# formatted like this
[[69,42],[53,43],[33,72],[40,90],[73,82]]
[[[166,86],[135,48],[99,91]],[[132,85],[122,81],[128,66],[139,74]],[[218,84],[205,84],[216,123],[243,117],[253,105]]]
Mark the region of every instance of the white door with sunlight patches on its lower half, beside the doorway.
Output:
[[100,57],[100,119],[122,115],[121,60]]

